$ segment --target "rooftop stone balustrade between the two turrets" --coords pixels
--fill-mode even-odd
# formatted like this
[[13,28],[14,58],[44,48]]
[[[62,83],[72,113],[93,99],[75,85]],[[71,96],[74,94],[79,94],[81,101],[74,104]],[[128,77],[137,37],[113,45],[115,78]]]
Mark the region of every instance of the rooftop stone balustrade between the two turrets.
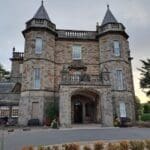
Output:
[[96,39],[94,31],[57,30],[59,38]]

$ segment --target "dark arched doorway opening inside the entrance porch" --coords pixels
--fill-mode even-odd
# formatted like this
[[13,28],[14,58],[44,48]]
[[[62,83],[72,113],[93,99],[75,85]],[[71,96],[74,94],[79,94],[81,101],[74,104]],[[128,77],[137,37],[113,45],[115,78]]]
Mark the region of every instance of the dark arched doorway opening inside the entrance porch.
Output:
[[100,123],[100,100],[97,93],[78,90],[71,97],[72,124]]

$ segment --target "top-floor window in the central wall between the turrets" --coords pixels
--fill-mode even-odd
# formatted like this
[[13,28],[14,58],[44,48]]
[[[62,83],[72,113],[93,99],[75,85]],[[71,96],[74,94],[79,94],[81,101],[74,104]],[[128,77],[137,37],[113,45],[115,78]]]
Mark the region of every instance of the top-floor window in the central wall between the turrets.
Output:
[[72,59],[79,60],[81,59],[81,46],[80,45],[74,45],[72,47]]

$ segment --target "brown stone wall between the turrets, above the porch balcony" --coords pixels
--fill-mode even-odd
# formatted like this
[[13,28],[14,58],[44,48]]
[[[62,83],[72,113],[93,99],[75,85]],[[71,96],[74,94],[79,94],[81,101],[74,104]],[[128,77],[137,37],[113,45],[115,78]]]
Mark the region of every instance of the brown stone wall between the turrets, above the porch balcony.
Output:
[[99,50],[97,41],[57,40],[55,50],[55,88],[59,89],[63,66],[69,66],[72,60],[72,46],[81,45],[82,62],[87,67],[86,73],[99,75]]

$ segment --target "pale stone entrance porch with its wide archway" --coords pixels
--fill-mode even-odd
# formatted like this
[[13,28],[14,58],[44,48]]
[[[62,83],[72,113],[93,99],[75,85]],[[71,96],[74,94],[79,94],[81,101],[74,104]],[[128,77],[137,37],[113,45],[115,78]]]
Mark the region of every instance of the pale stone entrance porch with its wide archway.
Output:
[[[111,87],[110,86],[80,86],[80,85],[70,85],[60,86],[60,101],[59,101],[59,119],[61,127],[71,127],[75,122],[74,107],[73,102],[78,102],[78,97],[81,98],[81,107],[79,108],[81,123],[99,123],[102,126],[113,126],[113,113],[112,113],[112,100],[111,100]],[[76,98],[77,97],[77,100]],[[75,100],[74,100],[75,99]],[[84,100],[85,99],[85,100]],[[74,104],[75,104],[74,102]],[[85,117],[85,107],[83,107],[83,102],[91,102],[85,104],[86,109],[89,105],[93,105],[94,117],[89,117],[88,111],[87,117]],[[91,111],[90,111],[91,113]],[[82,114],[82,115],[81,115]],[[90,120],[92,118],[93,120]],[[78,122],[78,121],[77,121]]]

